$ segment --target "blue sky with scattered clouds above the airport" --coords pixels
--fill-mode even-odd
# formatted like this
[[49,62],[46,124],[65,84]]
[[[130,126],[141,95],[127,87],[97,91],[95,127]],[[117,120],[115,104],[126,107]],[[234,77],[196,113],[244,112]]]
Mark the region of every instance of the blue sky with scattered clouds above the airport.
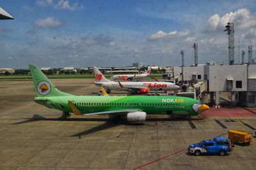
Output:
[[256,1],[0,0],[14,20],[0,20],[0,67],[115,67],[228,64],[227,22],[239,50],[256,57]]

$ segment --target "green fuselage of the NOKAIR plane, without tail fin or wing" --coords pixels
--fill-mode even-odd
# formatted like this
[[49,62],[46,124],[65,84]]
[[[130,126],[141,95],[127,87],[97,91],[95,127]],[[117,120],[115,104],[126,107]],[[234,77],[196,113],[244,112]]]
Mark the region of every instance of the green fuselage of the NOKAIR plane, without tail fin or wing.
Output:
[[200,101],[177,96],[61,96],[35,97],[36,103],[72,112],[72,101],[83,114],[100,111],[140,110],[147,114],[197,115]]

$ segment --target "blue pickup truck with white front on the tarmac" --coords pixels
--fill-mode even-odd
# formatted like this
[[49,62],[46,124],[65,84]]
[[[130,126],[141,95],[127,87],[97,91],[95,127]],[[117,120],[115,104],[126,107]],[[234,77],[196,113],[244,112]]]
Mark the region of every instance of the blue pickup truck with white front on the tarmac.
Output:
[[230,140],[222,136],[214,139],[207,139],[200,143],[194,143],[188,147],[188,152],[193,153],[196,156],[201,155],[201,153],[219,153],[223,156],[231,151]]

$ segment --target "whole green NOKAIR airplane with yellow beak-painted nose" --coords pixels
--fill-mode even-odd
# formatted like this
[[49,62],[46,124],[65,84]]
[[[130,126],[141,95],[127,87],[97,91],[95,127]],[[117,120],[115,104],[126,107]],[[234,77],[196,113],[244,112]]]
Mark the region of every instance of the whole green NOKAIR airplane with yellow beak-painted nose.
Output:
[[144,122],[147,115],[193,115],[209,106],[196,99],[177,96],[74,96],[58,90],[44,73],[29,64],[35,85],[35,102],[63,112],[63,117],[75,115],[113,115],[114,120]]

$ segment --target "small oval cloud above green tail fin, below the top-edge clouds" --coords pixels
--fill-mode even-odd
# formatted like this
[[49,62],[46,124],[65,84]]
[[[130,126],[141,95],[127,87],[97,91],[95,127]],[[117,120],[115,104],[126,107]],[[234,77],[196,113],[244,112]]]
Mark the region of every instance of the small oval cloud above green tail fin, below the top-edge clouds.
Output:
[[54,27],[60,27],[64,23],[60,20],[56,20],[52,17],[47,17],[42,20],[36,21],[36,26],[42,27],[42,28],[54,28]]

